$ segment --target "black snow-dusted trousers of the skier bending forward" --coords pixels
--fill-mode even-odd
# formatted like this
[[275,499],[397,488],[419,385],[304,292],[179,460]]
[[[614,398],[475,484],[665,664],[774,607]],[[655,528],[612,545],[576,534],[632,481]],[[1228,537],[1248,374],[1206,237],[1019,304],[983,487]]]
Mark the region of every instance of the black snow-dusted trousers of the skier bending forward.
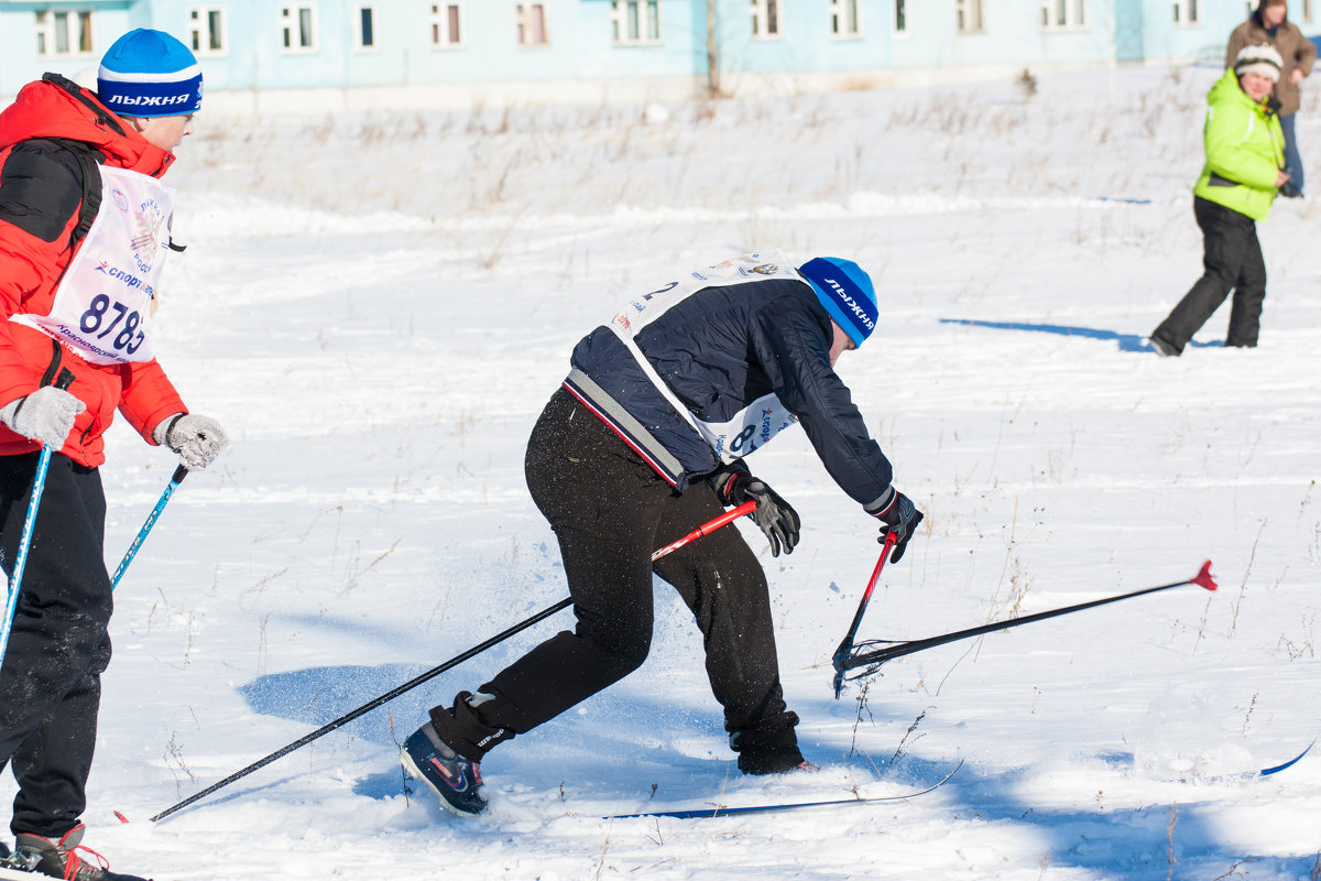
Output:
[[563,388],[532,429],[526,474],[559,539],[577,625],[476,696],[464,692],[452,709],[433,709],[440,736],[481,759],[637,670],[651,646],[654,572],[674,585],[701,630],[707,676],[740,767],[798,765],[798,716],[785,707],[766,576],[752,548],[725,527],[651,564],[655,548],[724,511],[709,485],[675,493]]

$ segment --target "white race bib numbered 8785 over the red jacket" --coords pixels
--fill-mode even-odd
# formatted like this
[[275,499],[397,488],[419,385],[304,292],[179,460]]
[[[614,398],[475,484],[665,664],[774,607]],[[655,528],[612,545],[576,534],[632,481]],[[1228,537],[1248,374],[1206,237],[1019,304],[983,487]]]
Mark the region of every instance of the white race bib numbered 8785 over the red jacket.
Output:
[[173,190],[153,177],[100,168],[100,210],[36,328],[94,365],[151,361],[152,296],[169,251]]

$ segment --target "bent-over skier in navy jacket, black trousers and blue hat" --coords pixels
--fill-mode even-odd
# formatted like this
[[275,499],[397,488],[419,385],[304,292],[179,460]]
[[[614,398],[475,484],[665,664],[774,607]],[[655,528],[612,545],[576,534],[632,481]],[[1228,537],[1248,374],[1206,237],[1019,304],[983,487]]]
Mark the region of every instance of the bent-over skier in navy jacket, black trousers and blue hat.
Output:
[[802,424],[826,470],[893,532],[904,555],[922,514],[835,374],[875,330],[872,280],[848,260],[794,269],[752,254],[629,300],[584,337],[542,412],[526,476],[560,543],[577,626],[532,649],[476,693],[436,707],[404,744],[404,767],[449,810],[486,807],[480,761],[637,670],[651,643],[653,573],[696,617],[729,745],[748,774],[811,767],[785,705],[766,576],[737,530],[651,563],[651,552],[754,499],[773,556],[799,518],[742,457]]

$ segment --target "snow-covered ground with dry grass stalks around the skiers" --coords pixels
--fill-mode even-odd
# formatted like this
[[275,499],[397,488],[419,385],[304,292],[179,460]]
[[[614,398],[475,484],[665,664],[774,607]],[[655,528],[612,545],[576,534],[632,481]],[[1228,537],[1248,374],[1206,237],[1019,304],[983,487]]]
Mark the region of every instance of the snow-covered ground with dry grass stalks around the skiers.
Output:
[[[181,148],[160,357],[232,449],[118,592],[87,843],[160,881],[1321,878],[1317,202],[1262,225],[1262,346],[1227,308],[1141,338],[1201,269],[1217,71],[778,100],[211,119]],[[1299,118],[1321,180],[1321,114]],[[831,692],[875,523],[801,432],[752,464],[803,515],[764,563],[815,777],[741,778],[682,604],[631,678],[493,753],[490,812],[396,742],[544,622],[169,819],[151,815],[565,596],[522,454],[573,343],[675,268],[848,256],[885,302],[840,371],[927,512],[860,638],[1192,577]],[[111,565],[174,462],[122,425]],[[756,548],[765,542],[740,524]],[[716,820],[649,808],[889,795]],[[1230,777],[1230,779],[1226,779]],[[0,783],[0,798],[12,782]],[[120,824],[112,811],[131,822]]]

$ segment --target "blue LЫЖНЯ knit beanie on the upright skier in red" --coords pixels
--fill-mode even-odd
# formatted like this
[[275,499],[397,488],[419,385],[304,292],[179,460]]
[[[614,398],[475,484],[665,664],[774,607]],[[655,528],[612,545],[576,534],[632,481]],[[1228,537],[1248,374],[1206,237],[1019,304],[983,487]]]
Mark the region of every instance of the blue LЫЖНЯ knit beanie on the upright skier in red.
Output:
[[202,69],[174,37],[139,28],[100,59],[96,96],[120,116],[186,116],[202,108]]

